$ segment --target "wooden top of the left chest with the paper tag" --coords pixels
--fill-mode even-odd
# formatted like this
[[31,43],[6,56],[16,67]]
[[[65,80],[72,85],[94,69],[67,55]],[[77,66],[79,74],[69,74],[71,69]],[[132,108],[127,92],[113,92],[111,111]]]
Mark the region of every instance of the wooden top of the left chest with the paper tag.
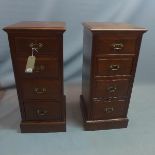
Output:
[[64,22],[43,22],[43,21],[23,21],[16,24],[9,25],[4,28],[5,31],[14,30],[53,30],[53,31],[65,31]]

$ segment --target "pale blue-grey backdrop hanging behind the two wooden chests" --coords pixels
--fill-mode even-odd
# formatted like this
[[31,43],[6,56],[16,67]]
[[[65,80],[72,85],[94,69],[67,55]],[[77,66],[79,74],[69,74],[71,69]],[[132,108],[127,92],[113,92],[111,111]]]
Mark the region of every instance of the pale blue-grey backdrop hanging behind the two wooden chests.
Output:
[[83,21],[127,22],[149,31],[144,34],[136,82],[155,82],[154,0],[0,0],[0,86],[14,85],[4,26],[19,21],[65,21],[64,80],[81,82]]

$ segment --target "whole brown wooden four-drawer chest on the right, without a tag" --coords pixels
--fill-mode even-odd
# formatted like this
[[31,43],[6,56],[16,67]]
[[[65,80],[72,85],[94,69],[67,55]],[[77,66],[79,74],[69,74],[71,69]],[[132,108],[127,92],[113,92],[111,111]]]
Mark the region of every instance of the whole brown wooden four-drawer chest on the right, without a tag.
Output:
[[85,130],[126,128],[142,35],[122,23],[84,23],[81,110]]

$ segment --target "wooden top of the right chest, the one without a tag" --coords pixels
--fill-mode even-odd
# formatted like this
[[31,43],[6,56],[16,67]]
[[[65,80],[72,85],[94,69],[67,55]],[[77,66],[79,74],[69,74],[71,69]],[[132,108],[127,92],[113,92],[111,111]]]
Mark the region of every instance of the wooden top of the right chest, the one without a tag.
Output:
[[145,28],[127,23],[85,22],[83,25],[90,31],[147,31]]

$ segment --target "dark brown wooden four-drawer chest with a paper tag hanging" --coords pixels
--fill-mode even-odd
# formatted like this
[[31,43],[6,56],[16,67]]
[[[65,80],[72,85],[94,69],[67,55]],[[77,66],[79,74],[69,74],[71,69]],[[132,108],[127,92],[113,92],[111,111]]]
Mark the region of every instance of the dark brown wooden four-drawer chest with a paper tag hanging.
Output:
[[[63,22],[20,22],[4,28],[8,33],[21,132],[66,130],[63,89]],[[34,71],[25,73],[32,47],[37,48]]]

